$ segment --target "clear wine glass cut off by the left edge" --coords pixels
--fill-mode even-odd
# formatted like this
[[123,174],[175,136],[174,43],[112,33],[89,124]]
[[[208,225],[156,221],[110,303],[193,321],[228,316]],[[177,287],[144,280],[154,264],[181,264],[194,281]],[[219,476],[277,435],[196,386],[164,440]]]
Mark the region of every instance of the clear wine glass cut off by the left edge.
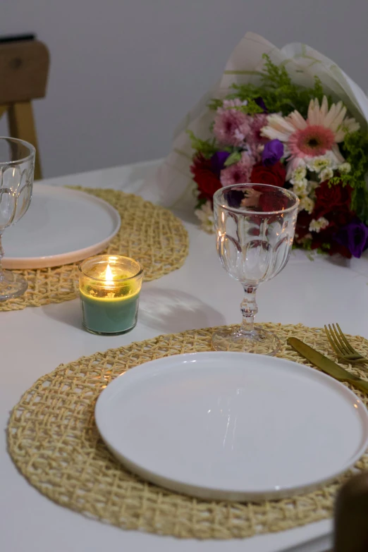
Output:
[[35,154],[28,142],[0,137],[0,301],[23,295],[28,286],[20,274],[2,269],[1,237],[30,207]]

